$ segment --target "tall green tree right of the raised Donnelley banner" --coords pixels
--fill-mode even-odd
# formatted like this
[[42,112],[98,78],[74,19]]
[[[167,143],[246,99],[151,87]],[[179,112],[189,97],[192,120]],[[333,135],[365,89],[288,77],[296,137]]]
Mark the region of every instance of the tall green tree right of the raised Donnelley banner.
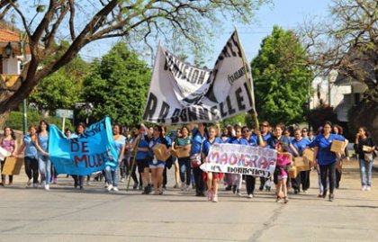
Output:
[[260,120],[293,124],[305,121],[313,75],[293,31],[275,26],[251,63]]

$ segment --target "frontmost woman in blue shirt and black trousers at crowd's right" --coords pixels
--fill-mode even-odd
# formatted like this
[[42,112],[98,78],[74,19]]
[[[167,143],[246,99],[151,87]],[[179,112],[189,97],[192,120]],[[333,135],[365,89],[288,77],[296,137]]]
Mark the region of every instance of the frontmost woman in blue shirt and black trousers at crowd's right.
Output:
[[323,128],[323,133],[311,143],[314,147],[314,161],[320,166],[321,184],[324,187],[323,198],[327,196],[327,175],[329,175],[329,201],[334,199],[335,176],[336,176],[336,162],[338,158],[334,152],[330,151],[332,142],[334,140],[345,141],[342,136],[332,134],[332,123],[326,121]]

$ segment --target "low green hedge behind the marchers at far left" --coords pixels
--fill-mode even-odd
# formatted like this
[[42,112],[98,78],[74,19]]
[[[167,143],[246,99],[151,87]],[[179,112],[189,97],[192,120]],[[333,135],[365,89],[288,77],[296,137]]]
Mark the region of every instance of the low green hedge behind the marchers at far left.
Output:
[[[45,120],[49,122],[50,124],[55,124],[59,130],[61,130],[62,128],[61,118],[51,117],[51,116],[43,117],[42,115],[40,115],[40,113],[31,112],[31,111],[28,111],[27,115],[28,115],[27,116],[28,129],[29,129],[29,126],[31,126],[31,124],[38,125],[41,120]],[[11,112],[11,114],[9,114],[8,120],[5,121],[5,126],[9,126],[14,130],[23,130],[23,112],[15,112],[15,111]],[[66,119],[65,127],[73,130],[72,129],[73,125],[72,125],[71,120]]]

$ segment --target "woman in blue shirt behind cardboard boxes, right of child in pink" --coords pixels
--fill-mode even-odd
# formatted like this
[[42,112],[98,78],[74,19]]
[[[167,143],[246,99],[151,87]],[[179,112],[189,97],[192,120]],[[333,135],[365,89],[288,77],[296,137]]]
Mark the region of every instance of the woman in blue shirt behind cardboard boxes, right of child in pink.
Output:
[[[302,137],[302,132],[300,129],[295,129],[292,144],[293,147],[298,151],[299,156],[302,157],[304,149],[306,149],[311,144],[311,141],[310,139]],[[302,184],[303,193],[307,193],[307,190],[310,188],[310,170],[302,171],[299,175],[297,175],[295,179],[292,179],[294,193],[300,192],[300,184]]]

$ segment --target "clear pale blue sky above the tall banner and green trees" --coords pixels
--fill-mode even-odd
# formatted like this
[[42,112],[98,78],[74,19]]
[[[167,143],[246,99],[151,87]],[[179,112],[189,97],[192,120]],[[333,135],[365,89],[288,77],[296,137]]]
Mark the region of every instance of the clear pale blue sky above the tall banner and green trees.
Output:
[[[274,25],[285,30],[296,29],[305,19],[311,16],[324,17],[329,14],[329,0],[274,0],[274,4],[262,6],[256,14],[256,20],[248,26],[238,26],[238,34],[248,61],[258,54],[262,40],[271,33]],[[234,23],[225,24],[224,30],[217,34],[212,49],[204,58],[205,65],[212,67],[230,34],[234,31]],[[80,56],[87,61],[101,58],[119,39],[101,40],[88,44],[80,51]],[[155,53],[154,53],[155,54]],[[190,58],[189,58],[190,59]],[[145,59],[151,65],[151,59]]]

